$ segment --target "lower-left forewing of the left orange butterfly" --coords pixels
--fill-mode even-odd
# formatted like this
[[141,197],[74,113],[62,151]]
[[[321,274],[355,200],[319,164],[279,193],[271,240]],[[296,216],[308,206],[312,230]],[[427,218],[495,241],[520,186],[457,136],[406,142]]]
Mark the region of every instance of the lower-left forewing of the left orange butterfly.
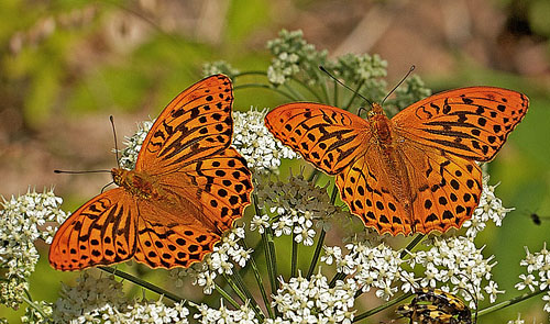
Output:
[[131,258],[135,215],[135,200],[122,188],[97,195],[59,226],[50,246],[50,264],[58,270],[81,270]]

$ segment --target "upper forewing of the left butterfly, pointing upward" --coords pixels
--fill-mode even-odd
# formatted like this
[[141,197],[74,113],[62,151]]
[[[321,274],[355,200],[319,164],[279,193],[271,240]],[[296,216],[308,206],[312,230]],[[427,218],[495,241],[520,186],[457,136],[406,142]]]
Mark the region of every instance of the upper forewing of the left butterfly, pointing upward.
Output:
[[232,103],[231,80],[223,75],[205,78],[184,90],[151,127],[135,170],[166,174],[229,147]]

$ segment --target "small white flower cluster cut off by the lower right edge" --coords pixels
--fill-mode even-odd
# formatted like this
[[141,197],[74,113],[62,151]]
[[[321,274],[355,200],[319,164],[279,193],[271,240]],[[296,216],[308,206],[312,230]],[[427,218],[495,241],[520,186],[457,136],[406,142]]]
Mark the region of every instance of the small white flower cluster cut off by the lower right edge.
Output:
[[[519,275],[521,282],[516,283],[515,288],[517,290],[529,288],[531,292],[535,291],[535,287],[547,290],[542,300],[546,302],[544,312],[550,313],[550,253],[547,249],[547,244],[544,242],[540,252],[531,254],[527,247],[525,247],[525,252],[527,256],[519,265],[527,267],[527,276]],[[538,276],[536,277],[536,275]]]

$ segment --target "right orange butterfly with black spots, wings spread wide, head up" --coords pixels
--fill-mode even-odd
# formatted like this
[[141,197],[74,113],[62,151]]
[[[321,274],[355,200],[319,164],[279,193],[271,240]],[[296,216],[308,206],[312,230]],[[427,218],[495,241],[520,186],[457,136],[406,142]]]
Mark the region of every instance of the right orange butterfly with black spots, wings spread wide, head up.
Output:
[[525,94],[471,87],[420,100],[388,119],[367,120],[320,103],[277,107],[267,129],[329,175],[365,226],[397,235],[460,228],[482,192],[475,164],[488,161],[521,121]]

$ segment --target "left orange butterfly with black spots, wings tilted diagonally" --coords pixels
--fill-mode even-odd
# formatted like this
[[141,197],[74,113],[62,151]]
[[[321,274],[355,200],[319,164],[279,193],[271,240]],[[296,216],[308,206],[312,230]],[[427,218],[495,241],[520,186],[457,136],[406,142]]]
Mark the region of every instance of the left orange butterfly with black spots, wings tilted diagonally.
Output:
[[212,252],[250,204],[251,172],[230,147],[231,80],[206,78],[161,113],[134,170],[113,168],[111,189],[79,208],[55,234],[58,270],[134,257],[152,268],[189,267]]

